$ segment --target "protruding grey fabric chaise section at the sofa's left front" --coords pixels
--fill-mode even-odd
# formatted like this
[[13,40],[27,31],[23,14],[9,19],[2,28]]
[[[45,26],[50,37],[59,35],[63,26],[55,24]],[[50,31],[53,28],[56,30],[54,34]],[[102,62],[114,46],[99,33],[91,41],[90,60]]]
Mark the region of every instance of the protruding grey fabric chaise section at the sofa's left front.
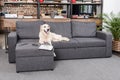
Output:
[[32,43],[19,42],[16,46],[16,71],[54,69],[53,51],[39,50]]

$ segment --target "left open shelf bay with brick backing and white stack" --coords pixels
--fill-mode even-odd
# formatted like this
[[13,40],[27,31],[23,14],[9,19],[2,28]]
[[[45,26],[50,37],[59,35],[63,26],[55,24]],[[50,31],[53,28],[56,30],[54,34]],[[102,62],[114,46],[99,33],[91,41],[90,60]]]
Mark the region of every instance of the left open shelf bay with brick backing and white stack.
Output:
[[4,2],[5,18],[34,18],[37,19],[37,2]]

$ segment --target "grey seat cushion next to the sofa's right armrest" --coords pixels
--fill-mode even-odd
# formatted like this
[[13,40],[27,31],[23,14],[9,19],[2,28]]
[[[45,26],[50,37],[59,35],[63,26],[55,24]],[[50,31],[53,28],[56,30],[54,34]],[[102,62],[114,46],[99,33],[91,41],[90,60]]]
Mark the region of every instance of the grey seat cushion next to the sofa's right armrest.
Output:
[[105,40],[99,38],[74,38],[78,41],[79,47],[104,47]]

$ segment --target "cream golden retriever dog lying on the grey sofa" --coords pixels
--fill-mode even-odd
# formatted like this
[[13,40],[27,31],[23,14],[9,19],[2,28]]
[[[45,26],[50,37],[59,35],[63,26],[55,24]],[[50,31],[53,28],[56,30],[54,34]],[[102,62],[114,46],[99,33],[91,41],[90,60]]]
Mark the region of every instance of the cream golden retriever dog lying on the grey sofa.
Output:
[[69,38],[50,32],[50,26],[48,24],[43,24],[40,26],[40,32],[39,32],[40,44],[48,43],[52,45],[51,42],[59,42],[59,41],[69,41]]

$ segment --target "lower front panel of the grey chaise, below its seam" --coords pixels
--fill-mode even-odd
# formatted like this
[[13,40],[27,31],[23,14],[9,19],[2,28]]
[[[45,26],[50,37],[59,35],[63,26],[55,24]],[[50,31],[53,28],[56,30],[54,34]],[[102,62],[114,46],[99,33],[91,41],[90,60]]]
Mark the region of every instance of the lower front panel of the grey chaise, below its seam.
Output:
[[54,59],[53,56],[39,56],[39,57],[17,57],[16,71],[38,71],[38,70],[53,70]]

